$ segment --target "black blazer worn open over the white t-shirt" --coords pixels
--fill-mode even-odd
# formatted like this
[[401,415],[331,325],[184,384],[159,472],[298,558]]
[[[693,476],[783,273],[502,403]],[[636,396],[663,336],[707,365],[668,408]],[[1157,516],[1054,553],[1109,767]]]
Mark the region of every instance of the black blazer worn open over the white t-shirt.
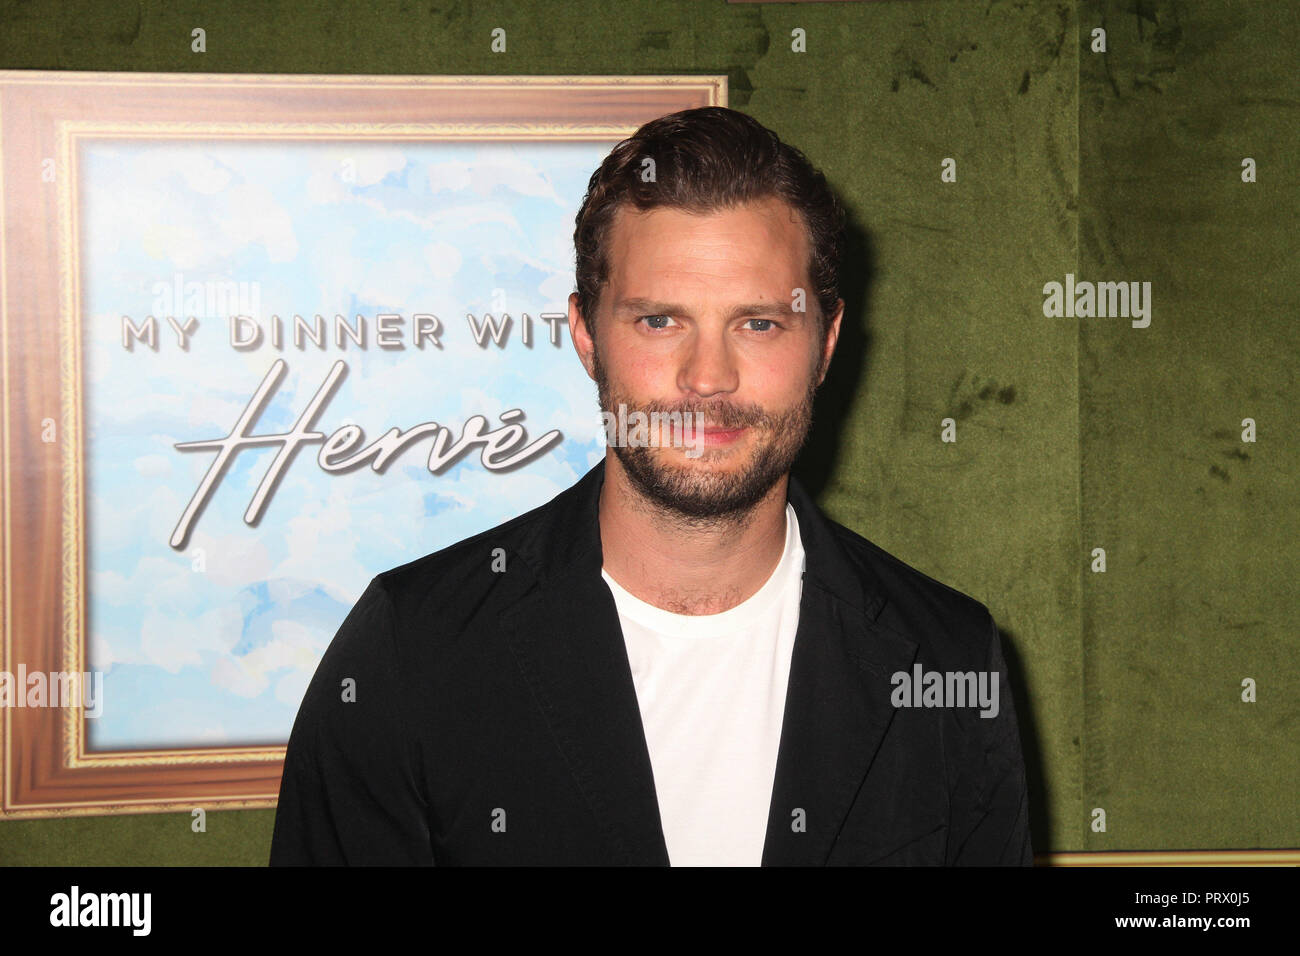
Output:
[[[272,865],[668,864],[601,578],[603,480],[602,460],[369,583],[294,722]],[[1031,864],[988,609],[826,518],[793,476],[789,501],[807,567],[763,865]],[[896,708],[890,675],[914,662],[997,671],[998,715]]]

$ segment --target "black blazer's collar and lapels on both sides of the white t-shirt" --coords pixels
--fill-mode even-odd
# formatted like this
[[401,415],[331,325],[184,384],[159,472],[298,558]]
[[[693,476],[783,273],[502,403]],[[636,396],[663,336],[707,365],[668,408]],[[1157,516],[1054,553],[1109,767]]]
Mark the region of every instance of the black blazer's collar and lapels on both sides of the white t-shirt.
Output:
[[[534,587],[500,614],[612,860],[667,865],[654,771],[614,596],[601,578],[604,460],[530,512]],[[806,566],[762,862],[823,864],[893,717],[889,675],[916,644],[875,622],[887,596],[793,475]],[[508,525],[507,525],[508,527]]]

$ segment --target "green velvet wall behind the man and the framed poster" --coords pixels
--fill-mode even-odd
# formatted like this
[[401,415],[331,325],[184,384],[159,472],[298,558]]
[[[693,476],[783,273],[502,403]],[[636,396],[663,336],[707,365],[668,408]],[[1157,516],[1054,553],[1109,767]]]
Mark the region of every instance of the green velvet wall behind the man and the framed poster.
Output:
[[[798,473],[993,610],[1035,849],[1300,847],[1300,4],[65,0],[0,21],[3,68],[727,74],[855,219]],[[1066,273],[1149,281],[1149,328],[1045,317]],[[273,816],[10,821],[0,862],[260,865]]]

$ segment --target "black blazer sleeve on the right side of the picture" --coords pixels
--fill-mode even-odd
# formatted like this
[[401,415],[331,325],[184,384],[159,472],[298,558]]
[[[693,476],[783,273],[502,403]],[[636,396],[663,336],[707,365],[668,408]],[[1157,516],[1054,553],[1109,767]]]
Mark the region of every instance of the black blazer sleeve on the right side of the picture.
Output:
[[1015,721],[1015,702],[1008,680],[1002,643],[993,615],[988,618],[984,669],[997,674],[998,709],[994,717],[974,713],[974,745],[958,779],[972,786],[952,799],[949,847],[954,866],[1032,866],[1028,792],[1024,757]]

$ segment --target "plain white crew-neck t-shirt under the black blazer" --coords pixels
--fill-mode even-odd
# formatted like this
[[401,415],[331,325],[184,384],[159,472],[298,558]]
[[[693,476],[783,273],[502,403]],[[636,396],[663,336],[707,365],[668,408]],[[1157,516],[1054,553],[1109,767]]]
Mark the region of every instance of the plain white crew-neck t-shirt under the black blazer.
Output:
[[623,624],[673,866],[762,862],[803,567],[786,502],[776,570],[722,614],[672,614],[601,571]]

